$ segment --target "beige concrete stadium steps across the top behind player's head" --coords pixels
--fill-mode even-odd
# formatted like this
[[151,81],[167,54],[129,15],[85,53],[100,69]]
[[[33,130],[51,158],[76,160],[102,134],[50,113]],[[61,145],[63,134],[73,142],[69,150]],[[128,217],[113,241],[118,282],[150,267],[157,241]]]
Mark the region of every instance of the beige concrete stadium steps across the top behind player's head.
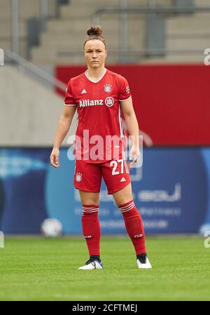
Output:
[[[56,0],[48,0],[49,15],[46,31],[40,35],[40,45],[31,49],[31,61],[37,65],[83,64],[83,41],[85,30],[92,25],[92,15],[99,8],[117,8],[120,1],[71,0],[59,6],[59,17],[55,18]],[[147,6],[148,0],[127,0],[129,8]],[[173,0],[158,0],[158,6],[172,6]],[[11,48],[10,1],[0,0],[1,48]],[[85,5],[84,5],[85,4]],[[208,0],[195,0],[195,6],[209,6]],[[27,20],[40,15],[40,1],[20,0],[20,55],[27,58]],[[210,13],[167,15],[165,19],[165,56],[149,57],[140,51],[146,49],[146,16],[127,15],[127,47],[130,62],[202,62],[207,41],[210,39]],[[53,18],[54,17],[54,18]],[[116,14],[102,15],[100,24],[106,35],[109,48],[107,62],[119,61],[120,17]],[[174,50],[176,51],[174,53]],[[190,53],[188,53],[190,51]]]

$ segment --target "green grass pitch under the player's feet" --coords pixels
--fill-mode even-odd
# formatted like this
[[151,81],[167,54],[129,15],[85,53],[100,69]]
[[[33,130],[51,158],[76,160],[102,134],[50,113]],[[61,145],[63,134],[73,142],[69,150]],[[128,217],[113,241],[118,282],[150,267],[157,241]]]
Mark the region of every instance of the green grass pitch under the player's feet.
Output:
[[138,269],[126,236],[102,236],[104,269],[78,270],[88,259],[80,237],[5,236],[0,300],[210,300],[210,248],[204,238],[147,236],[153,269]]

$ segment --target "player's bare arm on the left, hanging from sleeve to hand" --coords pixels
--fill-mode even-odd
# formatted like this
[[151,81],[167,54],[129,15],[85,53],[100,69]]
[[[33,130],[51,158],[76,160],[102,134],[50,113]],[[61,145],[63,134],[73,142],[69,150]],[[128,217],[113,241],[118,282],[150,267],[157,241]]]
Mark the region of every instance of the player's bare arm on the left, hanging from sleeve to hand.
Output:
[[76,106],[64,106],[62,115],[59,118],[55,133],[54,145],[50,154],[50,163],[55,168],[59,168],[59,147],[69,131],[75,112]]

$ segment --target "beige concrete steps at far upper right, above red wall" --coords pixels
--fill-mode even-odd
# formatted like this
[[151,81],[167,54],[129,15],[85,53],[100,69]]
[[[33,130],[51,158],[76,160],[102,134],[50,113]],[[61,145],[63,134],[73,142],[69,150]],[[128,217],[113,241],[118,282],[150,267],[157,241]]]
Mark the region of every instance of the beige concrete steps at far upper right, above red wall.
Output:
[[165,40],[169,53],[162,58],[144,58],[143,62],[203,62],[203,52],[210,39],[209,17],[210,13],[196,13],[167,18]]

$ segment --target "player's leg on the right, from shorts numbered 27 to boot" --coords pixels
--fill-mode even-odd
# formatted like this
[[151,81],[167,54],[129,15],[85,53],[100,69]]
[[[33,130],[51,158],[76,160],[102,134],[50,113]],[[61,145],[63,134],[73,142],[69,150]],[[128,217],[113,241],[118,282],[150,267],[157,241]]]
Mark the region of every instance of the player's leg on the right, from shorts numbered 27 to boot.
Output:
[[133,201],[126,161],[123,163],[124,165],[122,165],[122,160],[104,163],[102,174],[109,194],[113,194],[116,205],[123,214],[127,234],[129,234],[137,254],[138,267],[151,268],[146,256],[144,225]]

